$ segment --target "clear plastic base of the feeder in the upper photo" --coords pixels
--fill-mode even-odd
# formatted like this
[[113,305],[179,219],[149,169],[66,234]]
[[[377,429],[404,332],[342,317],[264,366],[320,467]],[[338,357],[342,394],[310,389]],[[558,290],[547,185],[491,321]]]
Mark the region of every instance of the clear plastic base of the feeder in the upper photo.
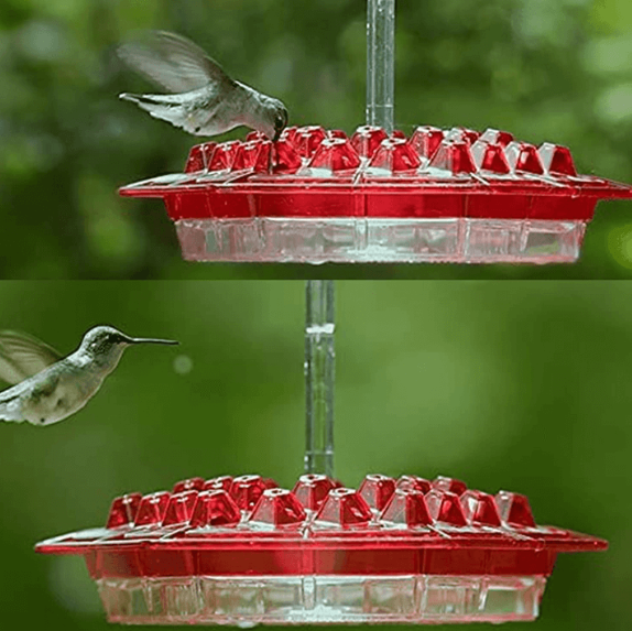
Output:
[[570,263],[586,221],[529,219],[181,219],[189,261]]

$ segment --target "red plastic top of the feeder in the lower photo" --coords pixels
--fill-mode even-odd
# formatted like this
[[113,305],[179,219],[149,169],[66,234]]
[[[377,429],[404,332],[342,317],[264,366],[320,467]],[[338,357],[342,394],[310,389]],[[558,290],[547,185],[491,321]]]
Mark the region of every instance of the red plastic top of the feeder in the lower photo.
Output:
[[369,475],[358,490],[302,476],[294,490],[260,476],[178,482],[117,498],[105,529],[37,544],[83,554],[94,578],[257,575],[547,576],[558,552],[603,540],[537,526],[524,496],[464,482]]

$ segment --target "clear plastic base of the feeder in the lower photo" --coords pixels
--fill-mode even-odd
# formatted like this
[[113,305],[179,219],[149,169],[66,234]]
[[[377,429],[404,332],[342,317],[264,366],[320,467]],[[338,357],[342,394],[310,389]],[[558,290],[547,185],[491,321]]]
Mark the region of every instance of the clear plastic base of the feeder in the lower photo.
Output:
[[100,579],[110,622],[336,624],[530,621],[541,576],[259,576]]

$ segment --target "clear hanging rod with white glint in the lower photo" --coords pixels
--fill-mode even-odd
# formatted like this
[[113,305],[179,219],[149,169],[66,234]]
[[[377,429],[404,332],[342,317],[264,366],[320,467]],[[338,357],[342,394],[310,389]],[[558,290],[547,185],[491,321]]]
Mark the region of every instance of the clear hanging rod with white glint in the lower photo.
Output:
[[305,285],[305,472],[334,477],[334,281]]

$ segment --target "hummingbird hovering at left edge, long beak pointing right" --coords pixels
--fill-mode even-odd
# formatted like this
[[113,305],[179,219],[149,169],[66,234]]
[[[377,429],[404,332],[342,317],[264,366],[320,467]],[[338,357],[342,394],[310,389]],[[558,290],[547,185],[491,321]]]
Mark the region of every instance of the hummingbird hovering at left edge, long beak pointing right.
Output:
[[129,337],[111,326],[97,326],[63,358],[30,335],[0,331],[0,378],[17,384],[0,392],[0,421],[42,426],[67,418],[97,393],[133,344],[178,342]]

